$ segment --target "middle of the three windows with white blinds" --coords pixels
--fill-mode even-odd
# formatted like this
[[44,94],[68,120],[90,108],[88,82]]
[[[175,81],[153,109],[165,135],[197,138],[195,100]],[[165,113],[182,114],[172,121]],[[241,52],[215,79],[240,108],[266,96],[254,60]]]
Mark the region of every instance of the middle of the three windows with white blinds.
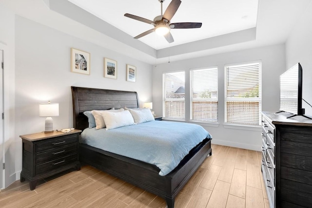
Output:
[[190,71],[191,119],[218,122],[218,69]]

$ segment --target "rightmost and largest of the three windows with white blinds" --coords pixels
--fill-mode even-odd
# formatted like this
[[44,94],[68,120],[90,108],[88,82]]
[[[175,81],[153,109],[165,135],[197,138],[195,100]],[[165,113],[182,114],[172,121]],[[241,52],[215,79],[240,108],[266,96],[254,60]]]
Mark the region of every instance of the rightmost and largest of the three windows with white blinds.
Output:
[[261,62],[225,67],[225,122],[259,125]]

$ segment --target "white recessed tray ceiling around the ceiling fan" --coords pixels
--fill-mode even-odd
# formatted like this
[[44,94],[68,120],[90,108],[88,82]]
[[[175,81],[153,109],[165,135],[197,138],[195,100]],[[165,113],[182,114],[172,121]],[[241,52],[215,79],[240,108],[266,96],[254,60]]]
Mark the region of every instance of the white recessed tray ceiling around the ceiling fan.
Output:
[[[300,32],[293,31],[293,27],[312,2],[312,0],[259,0],[258,3],[256,0],[182,0],[172,22],[200,21],[203,26],[200,29],[176,29],[177,34],[172,30],[175,42],[169,44],[156,34],[149,34],[145,40],[134,39],[134,36],[152,26],[123,16],[124,13],[130,13],[153,20],[160,13],[158,0],[84,0],[89,6],[93,1],[99,3],[98,13],[103,13],[107,20],[90,14],[68,0],[0,0],[0,6],[16,15],[73,37],[149,64],[158,64],[168,62],[169,56],[170,61],[173,62],[285,43],[290,33]],[[101,2],[105,2],[105,8],[100,7]],[[250,2],[254,2],[252,3],[254,7],[249,5]],[[165,0],[164,10],[169,3],[170,0]],[[249,15],[248,10],[246,12],[241,10],[241,14],[233,14],[239,8],[245,8],[244,5],[255,8],[253,12],[257,13],[255,26],[252,25],[254,23],[250,25],[246,23],[254,19]],[[222,11],[228,12],[221,14]],[[109,12],[113,13],[111,15],[116,15],[116,18],[105,15]],[[209,16],[211,14],[215,15]],[[241,19],[245,15],[249,16],[245,19],[247,21]],[[226,20],[225,18],[228,17],[230,18]],[[232,23],[227,25],[227,21]],[[125,29],[119,29],[115,22],[127,22],[120,25]],[[225,25],[217,22],[223,22]],[[242,28],[233,22],[238,22]],[[245,23],[241,25],[241,22]],[[233,32],[234,28],[240,31]],[[207,31],[198,32],[204,29]],[[195,40],[195,35],[199,40]]]

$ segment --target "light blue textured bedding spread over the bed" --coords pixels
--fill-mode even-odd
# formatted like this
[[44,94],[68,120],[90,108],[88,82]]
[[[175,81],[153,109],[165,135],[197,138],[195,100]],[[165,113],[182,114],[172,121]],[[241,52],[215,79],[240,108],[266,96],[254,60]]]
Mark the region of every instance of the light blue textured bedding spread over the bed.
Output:
[[80,143],[154,164],[166,175],[205,138],[211,135],[196,124],[149,121],[108,131],[87,128]]

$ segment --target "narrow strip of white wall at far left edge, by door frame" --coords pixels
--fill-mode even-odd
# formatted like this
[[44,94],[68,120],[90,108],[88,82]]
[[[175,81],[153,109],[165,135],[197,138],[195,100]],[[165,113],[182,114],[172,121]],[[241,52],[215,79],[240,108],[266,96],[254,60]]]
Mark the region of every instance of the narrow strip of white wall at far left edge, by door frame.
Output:
[[[0,43],[4,50],[4,157],[5,187],[16,180],[15,174],[15,15],[0,2]],[[2,112],[1,112],[2,113]],[[0,138],[2,140],[2,137]],[[2,141],[1,141],[2,142]],[[2,147],[0,147],[2,148]],[[0,155],[2,157],[2,155]],[[2,180],[2,179],[0,179]],[[1,189],[1,187],[0,187]]]

